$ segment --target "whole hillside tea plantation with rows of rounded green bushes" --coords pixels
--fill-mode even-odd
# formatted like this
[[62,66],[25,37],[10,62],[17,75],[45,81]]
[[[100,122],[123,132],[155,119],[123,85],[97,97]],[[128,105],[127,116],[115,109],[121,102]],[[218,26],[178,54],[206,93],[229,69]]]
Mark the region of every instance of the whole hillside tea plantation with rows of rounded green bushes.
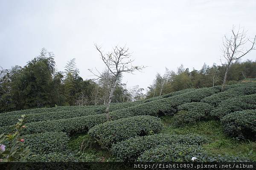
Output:
[[26,115],[28,161],[256,161],[256,82],[185,89],[105,106],[1,114],[0,134]]

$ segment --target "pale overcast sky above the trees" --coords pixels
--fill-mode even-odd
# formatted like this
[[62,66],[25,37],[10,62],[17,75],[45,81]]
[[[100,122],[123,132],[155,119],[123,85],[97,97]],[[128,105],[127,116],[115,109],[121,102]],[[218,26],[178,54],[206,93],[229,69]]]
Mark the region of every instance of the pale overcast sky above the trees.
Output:
[[[165,67],[220,64],[233,24],[256,34],[256,0],[0,0],[0,66],[24,66],[44,47],[58,70],[76,58],[88,79],[87,69],[104,68],[94,42],[105,52],[127,44],[134,64],[148,68],[123,82],[147,88]],[[256,52],[246,59],[255,61]]]

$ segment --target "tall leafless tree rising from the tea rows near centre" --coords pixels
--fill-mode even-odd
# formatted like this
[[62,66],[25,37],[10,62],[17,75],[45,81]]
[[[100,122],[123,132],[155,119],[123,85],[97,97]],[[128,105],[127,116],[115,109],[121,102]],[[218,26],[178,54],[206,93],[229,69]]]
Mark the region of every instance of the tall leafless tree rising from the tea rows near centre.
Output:
[[[133,66],[132,62],[134,60],[131,59],[131,53],[129,53],[129,49],[126,46],[119,47],[115,46],[113,48],[112,52],[108,52],[104,54],[102,52],[101,46],[97,46],[97,44],[94,44],[95,48],[99,52],[102,61],[104,62],[105,66],[108,69],[108,81],[110,83],[109,86],[109,93],[108,93],[108,102],[106,102],[106,117],[107,120],[110,119],[109,116],[109,106],[111,103],[111,99],[113,97],[113,92],[118,83],[122,80],[122,73],[131,73],[133,74],[135,71],[141,71],[145,66]],[[97,70],[97,69],[96,69]],[[93,73],[92,70],[89,70]],[[102,74],[97,71],[99,75],[94,74],[98,77],[101,77]]]

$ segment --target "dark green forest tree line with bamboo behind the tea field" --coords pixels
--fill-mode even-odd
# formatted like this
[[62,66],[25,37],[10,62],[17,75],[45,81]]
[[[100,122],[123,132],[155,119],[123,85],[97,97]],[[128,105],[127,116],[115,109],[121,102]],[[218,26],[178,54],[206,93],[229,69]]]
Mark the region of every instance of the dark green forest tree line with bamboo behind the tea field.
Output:
[[[189,71],[183,65],[177,71],[166,68],[163,75],[157,73],[146,94],[142,88],[128,89],[126,84],[116,84],[111,102],[136,101],[170,92],[221,85],[226,65],[205,63],[200,70]],[[83,80],[79,76],[75,59],[67,62],[64,71],[55,66],[54,54],[42,49],[40,55],[26,66],[13,66],[0,70],[0,112],[55,107],[67,105],[100,105],[108,101],[109,84],[104,72],[97,80]],[[256,78],[256,61],[237,60],[230,66],[227,83],[232,84],[245,78]]]

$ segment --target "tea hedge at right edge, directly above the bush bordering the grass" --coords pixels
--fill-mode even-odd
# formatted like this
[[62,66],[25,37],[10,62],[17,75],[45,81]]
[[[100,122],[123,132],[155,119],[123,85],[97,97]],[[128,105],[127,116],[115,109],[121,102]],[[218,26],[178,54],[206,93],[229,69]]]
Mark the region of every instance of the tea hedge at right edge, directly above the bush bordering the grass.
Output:
[[235,111],[246,109],[256,109],[256,94],[238,96],[224,101],[210,112],[210,115],[216,118],[222,118],[224,115]]

